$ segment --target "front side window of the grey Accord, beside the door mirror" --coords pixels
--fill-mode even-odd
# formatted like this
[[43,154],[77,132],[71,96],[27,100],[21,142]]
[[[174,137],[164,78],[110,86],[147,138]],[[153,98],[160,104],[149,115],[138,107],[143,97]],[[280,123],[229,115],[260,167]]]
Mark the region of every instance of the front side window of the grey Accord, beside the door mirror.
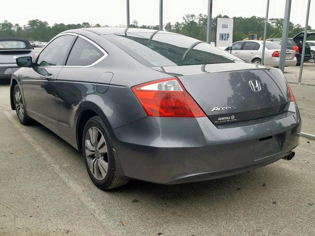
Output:
[[54,39],[39,54],[37,64],[39,66],[63,65],[75,37],[74,35],[63,35]]

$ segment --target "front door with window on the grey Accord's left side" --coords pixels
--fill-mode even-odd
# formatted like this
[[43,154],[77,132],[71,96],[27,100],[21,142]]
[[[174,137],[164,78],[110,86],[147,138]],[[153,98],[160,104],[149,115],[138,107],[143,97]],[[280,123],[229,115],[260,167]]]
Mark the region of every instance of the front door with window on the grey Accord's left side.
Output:
[[61,35],[36,57],[23,74],[23,94],[28,114],[52,130],[56,126],[56,79],[77,36]]

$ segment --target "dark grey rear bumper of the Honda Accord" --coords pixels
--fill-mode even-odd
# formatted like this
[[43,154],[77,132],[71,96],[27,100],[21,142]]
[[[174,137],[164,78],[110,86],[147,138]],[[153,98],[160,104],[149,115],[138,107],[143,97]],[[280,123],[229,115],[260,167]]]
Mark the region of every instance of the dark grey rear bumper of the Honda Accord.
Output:
[[275,162],[298,145],[300,130],[298,109],[291,102],[285,113],[220,126],[207,117],[146,117],[114,129],[113,145],[124,176],[175,184]]

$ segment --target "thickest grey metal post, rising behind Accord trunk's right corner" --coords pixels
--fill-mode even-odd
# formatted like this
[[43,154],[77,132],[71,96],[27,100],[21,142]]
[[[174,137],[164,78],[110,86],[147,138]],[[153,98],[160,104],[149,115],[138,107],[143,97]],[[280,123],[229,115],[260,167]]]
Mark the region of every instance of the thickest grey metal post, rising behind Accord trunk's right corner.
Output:
[[282,41],[281,41],[280,62],[279,62],[279,69],[281,69],[282,72],[284,72],[287,35],[288,35],[289,22],[290,22],[290,11],[291,11],[291,0],[285,0],[284,27],[282,30]]

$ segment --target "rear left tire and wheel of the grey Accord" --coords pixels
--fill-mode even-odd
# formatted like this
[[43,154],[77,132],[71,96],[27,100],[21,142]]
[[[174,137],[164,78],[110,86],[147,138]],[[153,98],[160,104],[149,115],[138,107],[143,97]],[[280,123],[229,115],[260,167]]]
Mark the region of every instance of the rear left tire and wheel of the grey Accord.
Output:
[[82,150],[88,174],[98,188],[107,190],[128,182],[118,177],[110,134],[100,117],[90,118],[85,124]]

